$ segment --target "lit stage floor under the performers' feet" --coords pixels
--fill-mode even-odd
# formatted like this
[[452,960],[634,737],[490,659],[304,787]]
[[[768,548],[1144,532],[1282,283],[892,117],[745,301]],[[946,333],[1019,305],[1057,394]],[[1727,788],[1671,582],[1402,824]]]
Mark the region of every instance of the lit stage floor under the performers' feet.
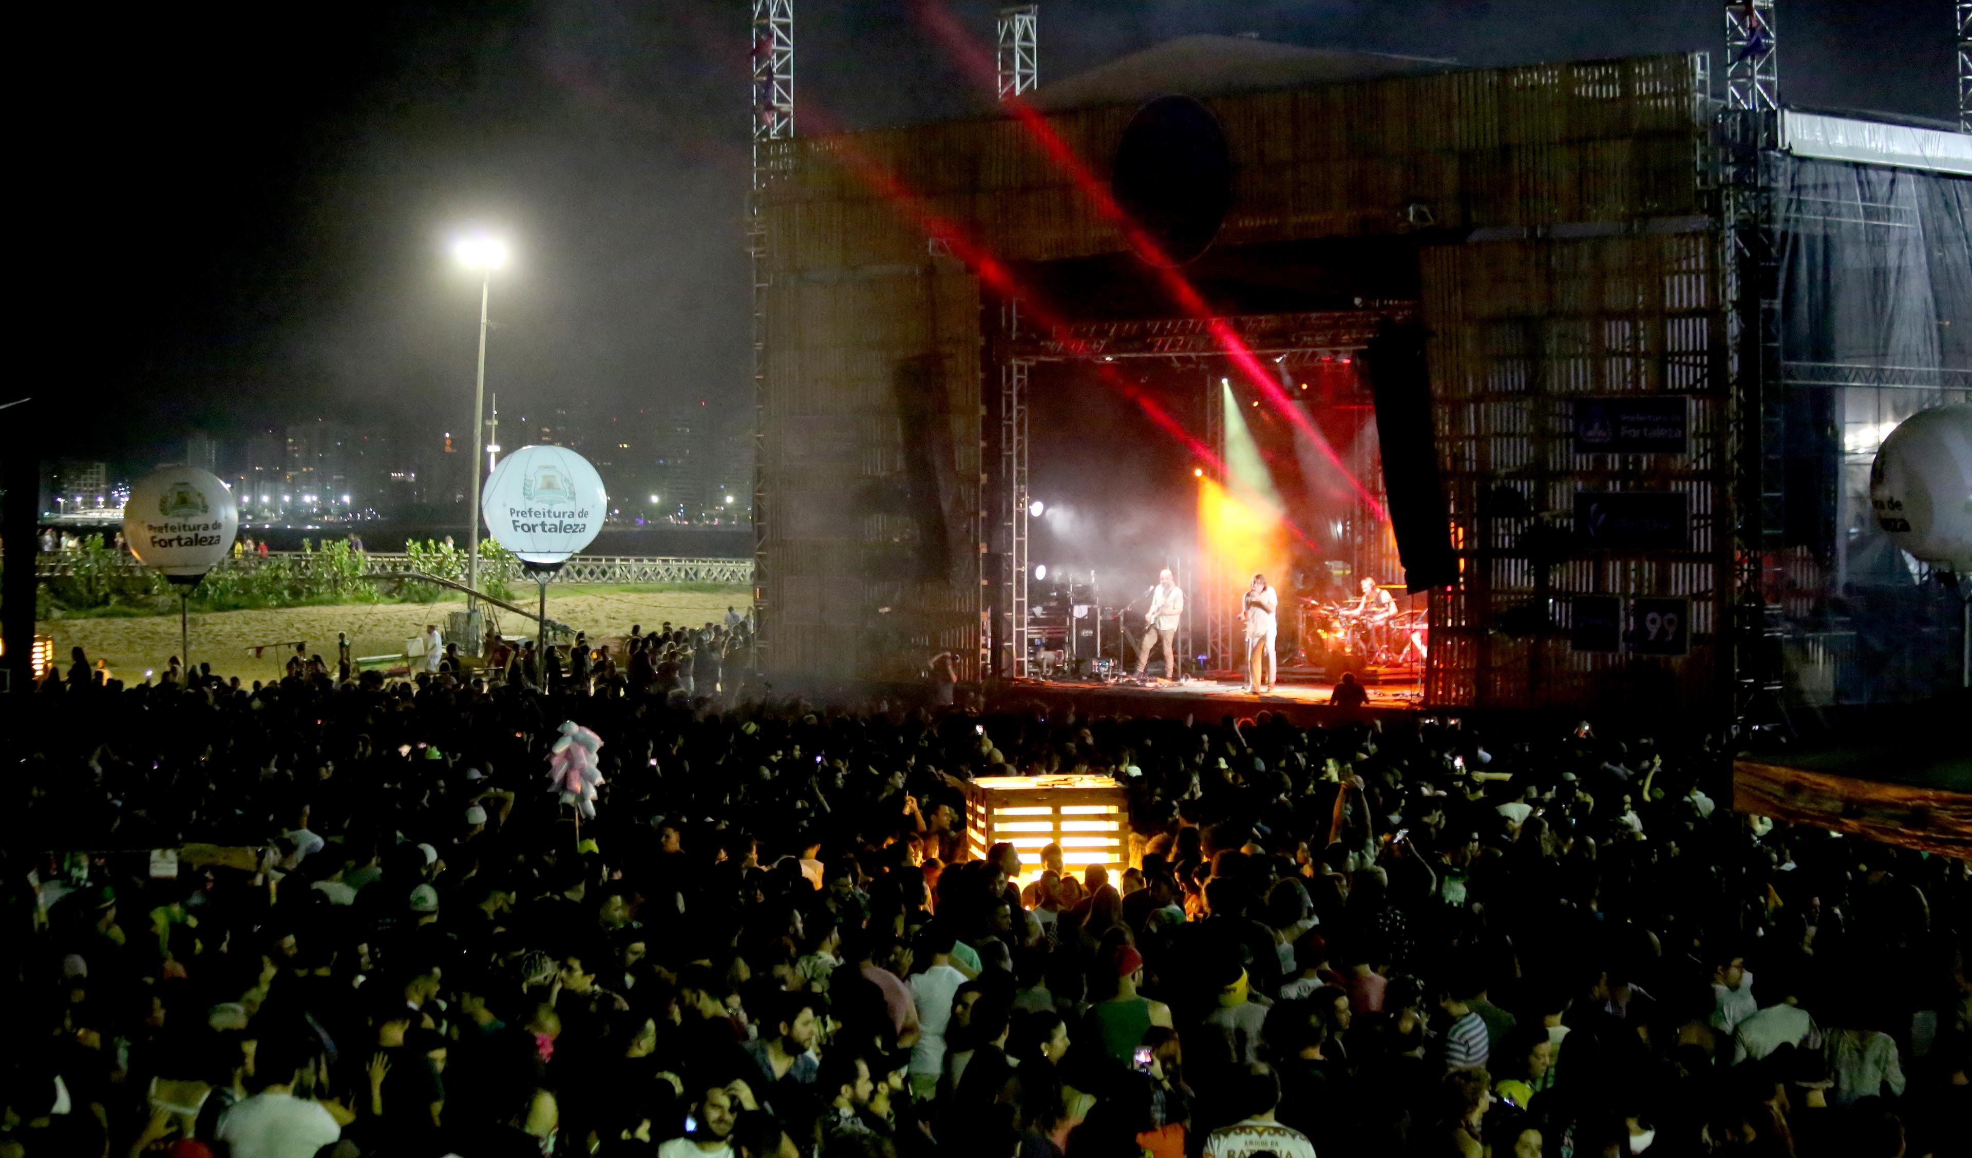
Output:
[[1422,703],[1422,687],[1416,681],[1365,683],[1369,703],[1355,713],[1331,707],[1329,693],[1333,691],[1335,685],[1325,681],[1276,683],[1266,695],[1252,695],[1244,683],[1234,679],[1185,679],[1183,683],[1152,679],[1146,685],[1094,679],[1016,679],[988,691],[988,703],[996,709],[1014,709],[1021,701],[1041,701],[1073,705],[1085,715],[1197,715],[1205,719],[1250,717],[1270,711],[1303,727],[1351,715],[1363,719],[1412,713]]

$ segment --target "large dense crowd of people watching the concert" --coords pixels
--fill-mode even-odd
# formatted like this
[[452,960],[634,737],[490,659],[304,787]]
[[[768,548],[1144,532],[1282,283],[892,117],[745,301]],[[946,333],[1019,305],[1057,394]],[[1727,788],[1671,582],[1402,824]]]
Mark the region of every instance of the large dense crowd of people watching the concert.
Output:
[[[1966,865],[1700,737],[643,691],[43,685],[0,1158],[1964,1152]],[[1114,776],[1130,867],[974,859],[1010,772]]]

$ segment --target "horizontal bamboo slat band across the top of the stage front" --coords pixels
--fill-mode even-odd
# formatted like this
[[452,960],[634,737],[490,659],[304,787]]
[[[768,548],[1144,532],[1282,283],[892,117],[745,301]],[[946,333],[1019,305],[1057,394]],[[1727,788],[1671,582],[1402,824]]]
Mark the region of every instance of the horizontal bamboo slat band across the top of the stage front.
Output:
[[[1392,77],[1207,98],[1232,156],[1217,244],[1704,213],[1694,57],[1635,57]],[[1136,110],[1049,118],[1096,181]],[[1016,120],[956,120],[777,146],[775,270],[913,262],[931,221],[1002,260],[1124,250],[1075,177]]]

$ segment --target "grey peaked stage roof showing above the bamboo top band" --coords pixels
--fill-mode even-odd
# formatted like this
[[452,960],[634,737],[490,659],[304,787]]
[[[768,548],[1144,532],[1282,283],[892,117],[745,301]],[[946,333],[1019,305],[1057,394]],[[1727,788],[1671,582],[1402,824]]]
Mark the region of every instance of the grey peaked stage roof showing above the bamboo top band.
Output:
[[1303,89],[1337,81],[1369,81],[1416,73],[1444,73],[1455,61],[1315,49],[1244,35],[1183,35],[1140,53],[1043,83],[1027,98],[1043,112],[1144,104],[1156,96],[1225,96]]

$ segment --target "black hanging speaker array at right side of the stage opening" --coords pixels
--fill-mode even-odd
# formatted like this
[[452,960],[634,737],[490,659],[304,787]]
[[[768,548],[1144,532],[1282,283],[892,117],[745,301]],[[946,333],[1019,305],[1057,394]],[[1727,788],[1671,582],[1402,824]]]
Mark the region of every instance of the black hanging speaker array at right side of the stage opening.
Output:
[[1432,378],[1424,360],[1424,327],[1386,325],[1369,349],[1369,384],[1376,400],[1376,441],[1382,447],[1382,490],[1390,530],[1410,591],[1451,587],[1459,579],[1451,555],[1451,516],[1438,475],[1432,429]]

